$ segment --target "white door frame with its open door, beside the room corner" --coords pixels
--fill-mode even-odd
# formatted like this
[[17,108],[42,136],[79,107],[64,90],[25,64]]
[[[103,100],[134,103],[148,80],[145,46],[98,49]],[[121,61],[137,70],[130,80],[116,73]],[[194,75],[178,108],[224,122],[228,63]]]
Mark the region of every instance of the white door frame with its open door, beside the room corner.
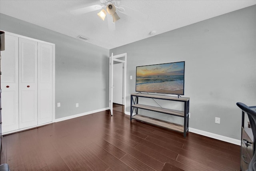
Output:
[[[120,60],[118,58],[124,58],[124,60]],[[112,53],[109,57],[110,63],[109,63],[109,108],[110,108],[110,114],[113,115],[113,68],[114,64],[113,62],[120,62],[124,64],[124,72],[123,72],[123,95],[124,95],[124,113],[125,113],[125,107],[126,107],[126,61],[127,61],[127,53],[115,55]]]

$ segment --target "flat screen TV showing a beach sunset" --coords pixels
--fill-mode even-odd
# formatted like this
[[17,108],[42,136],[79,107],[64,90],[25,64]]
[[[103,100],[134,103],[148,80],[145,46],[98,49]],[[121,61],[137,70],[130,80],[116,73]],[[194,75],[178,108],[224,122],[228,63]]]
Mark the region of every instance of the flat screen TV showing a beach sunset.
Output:
[[136,67],[136,91],[184,95],[185,61]]

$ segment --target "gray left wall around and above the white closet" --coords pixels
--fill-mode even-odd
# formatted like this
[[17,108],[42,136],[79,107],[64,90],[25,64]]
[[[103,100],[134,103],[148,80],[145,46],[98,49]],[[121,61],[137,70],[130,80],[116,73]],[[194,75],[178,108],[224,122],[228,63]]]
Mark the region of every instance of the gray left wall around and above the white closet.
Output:
[[56,119],[108,107],[109,50],[4,14],[0,30],[55,44]]

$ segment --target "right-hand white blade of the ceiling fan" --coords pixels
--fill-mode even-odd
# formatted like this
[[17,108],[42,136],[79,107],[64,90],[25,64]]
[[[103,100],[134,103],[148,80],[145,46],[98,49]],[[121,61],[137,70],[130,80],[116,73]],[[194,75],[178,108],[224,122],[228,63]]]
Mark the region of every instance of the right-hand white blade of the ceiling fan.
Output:
[[135,18],[135,19],[138,19],[138,20],[141,20],[141,21],[144,21],[144,20],[148,19],[148,15],[143,14],[139,11],[136,11],[132,8],[129,8],[127,6],[121,5],[121,6],[116,7],[116,8],[118,8],[119,12],[121,12],[123,14],[126,14],[127,16],[131,16],[132,18]]

